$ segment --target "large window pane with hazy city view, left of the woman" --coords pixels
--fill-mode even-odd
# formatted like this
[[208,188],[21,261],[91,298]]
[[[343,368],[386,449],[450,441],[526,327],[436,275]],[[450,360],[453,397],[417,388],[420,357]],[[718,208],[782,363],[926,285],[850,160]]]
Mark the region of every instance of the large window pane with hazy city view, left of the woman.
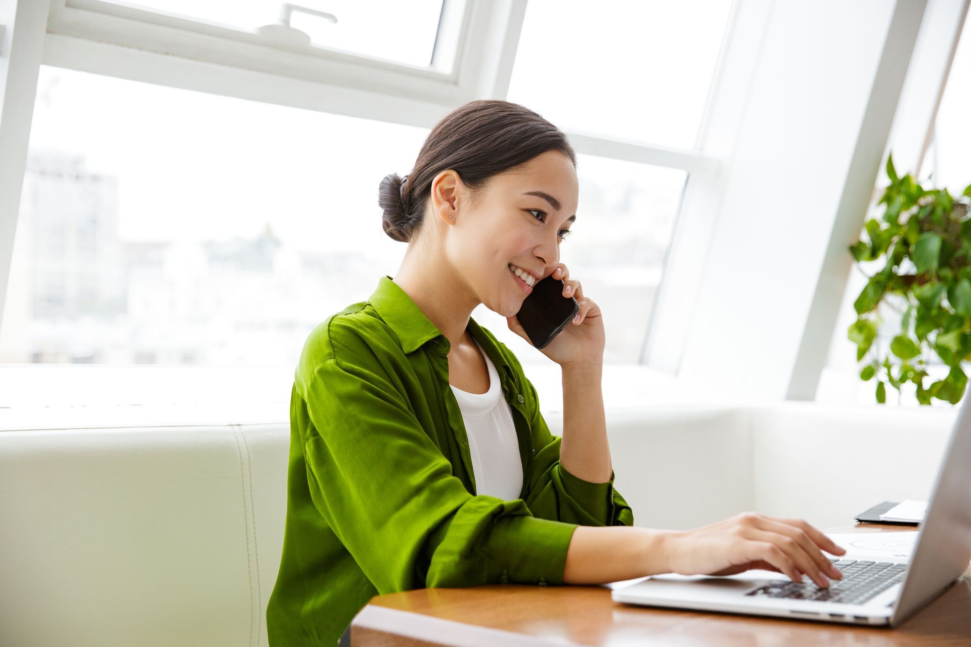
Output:
[[3,359],[292,367],[397,269],[378,185],[426,136],[42,67]]

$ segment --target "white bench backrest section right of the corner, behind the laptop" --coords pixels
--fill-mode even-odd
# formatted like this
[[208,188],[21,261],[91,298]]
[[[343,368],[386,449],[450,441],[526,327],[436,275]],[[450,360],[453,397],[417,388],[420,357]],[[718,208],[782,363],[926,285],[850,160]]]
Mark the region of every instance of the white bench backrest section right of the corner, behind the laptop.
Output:
[[817,528],[930,498],[958,409],[786,403],[753,410],[754,507]]

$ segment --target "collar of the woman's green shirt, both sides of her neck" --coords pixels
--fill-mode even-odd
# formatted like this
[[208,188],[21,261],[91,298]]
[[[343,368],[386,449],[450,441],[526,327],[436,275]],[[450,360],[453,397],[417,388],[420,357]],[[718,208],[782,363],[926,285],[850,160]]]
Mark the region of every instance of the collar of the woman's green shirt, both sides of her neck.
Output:
[[[398,336],[405,353],[415,352],[429,340],[435,340],[435,349],[439,352],[449,353],[449,340],[390,276],[384,275],[378,279],[378,287],[368,301]],[[512,375],[513,369],[506,357],[472,317],[469,317],[468,330],[485,349],[492,364],[497,369],[502,367],[507,375]]]

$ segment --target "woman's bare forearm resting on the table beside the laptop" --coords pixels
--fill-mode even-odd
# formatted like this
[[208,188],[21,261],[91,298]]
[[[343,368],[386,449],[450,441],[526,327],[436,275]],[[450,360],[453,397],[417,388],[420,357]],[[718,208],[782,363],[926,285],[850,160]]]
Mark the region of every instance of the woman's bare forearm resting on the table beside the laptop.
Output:
[[622,526],[580,526],[570,538],[564,584],[605,584],[670,572],[672,531]]

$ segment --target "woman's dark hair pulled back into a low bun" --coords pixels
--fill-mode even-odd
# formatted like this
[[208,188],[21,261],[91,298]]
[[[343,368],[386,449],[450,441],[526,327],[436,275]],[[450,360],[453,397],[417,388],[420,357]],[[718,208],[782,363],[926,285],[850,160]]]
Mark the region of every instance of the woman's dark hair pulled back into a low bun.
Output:
[[576,167],[577,155],[566,135],[528,108],[495,99],[459,106],[428,133],[411,173],[381,180],[378,204],[385,234],[402,243],[411,240],[421,225],[431,182],[442,171],[454,170],[475,197],[492,176],[547,150],[559,150]]

